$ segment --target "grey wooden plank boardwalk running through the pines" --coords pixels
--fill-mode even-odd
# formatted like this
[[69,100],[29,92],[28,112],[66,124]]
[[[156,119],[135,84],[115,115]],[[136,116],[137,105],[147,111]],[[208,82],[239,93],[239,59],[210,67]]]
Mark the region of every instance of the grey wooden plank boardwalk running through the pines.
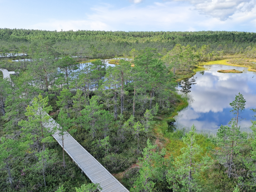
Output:
[[[10,78],[7,70],[0,68],[0,71],[3,72],[3,78]],[[43,126],[51,130],[53,127],[59,127],[60,125],[51,118],[50,121]],[[52,136],[62,147],[62,136],[58,134],[58,131]],[[64,135],[64,150],[92,183],[100,184],[102,192],[129,192],[129,190],[111,175],[109,171],[107,171],[104,166],[86,151],[68,132]]]

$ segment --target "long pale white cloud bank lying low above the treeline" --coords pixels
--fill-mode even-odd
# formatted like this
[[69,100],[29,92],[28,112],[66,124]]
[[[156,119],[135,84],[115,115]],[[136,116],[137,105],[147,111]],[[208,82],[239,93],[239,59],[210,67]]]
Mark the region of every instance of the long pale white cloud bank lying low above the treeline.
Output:
[[131,4],[121,8],[100,4],[92,7],[90,12],[81,19],[51,19],[29,28],[57,31],[255,31],[256,28],[256,7],[252,12],[235,13],[228,21],[199,14],[193,5],[180,2],[155,2],[147,6]]

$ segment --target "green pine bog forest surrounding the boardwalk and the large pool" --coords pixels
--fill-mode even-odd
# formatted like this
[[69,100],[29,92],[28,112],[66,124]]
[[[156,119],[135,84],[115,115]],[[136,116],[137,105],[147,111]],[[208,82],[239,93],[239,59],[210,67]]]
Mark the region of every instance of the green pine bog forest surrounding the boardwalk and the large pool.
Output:
[[[129,191],[256,191],[256,120],[240,130],[241,93],[216,135],[173,126],[188,106],[180,80],[208,61],[256,71],[255,43],[249,32],[0,29],[0,68],[15,72],[0,71],[0,190],[100,190],[53,139],[58,130]],[[61,127],[47,129],[38,109]]]

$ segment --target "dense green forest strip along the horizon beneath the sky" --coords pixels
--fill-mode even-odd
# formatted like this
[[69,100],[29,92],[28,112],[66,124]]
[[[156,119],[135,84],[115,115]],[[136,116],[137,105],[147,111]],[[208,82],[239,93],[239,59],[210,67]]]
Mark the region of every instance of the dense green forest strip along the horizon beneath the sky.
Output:
[[104,42],[208,42],[230,41],[255,43],[256,33],[228,31],[200,32],[125,32],[125,31],[42,31],[34,29],[0,29],[0,40],[87,40]]

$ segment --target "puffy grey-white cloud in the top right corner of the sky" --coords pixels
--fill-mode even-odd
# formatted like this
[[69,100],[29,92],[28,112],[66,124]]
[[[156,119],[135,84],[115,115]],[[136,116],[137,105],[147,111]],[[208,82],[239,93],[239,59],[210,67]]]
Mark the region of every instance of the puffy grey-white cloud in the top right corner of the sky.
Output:
[[190,2],[201,14],[225,21],[238,12],[250,12],[255,0],[172,0]]

